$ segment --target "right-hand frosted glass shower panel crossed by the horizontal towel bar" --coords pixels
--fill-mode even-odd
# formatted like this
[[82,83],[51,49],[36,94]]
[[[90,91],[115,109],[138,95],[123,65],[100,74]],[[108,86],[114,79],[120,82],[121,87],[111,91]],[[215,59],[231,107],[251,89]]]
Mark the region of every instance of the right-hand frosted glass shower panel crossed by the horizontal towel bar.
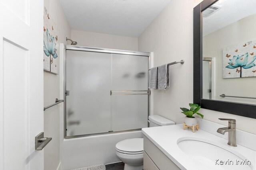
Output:
[[113,131],[148,127],[148,95],[142,95],[147,92],[125,92],[148,90],[148,56],[112,54],[111,90],[140,94],[111,97]]

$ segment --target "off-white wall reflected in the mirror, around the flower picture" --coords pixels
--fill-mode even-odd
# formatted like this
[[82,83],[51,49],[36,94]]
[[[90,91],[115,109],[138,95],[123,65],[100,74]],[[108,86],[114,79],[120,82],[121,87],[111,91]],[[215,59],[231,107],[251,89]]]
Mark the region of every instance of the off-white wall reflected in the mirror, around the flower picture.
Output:
[[[244,44],[256,39],[256,14],[238,20],[226,27],[218,29],[203,37],[203,57],[216,57],[216,100],[256,104],[255,99],[222,98],[220,94],[230,96],[256,96],[256,78],[222,78],[222,49],[238,44]],[[238,36],[234,36],[238,35]],[[251,53],[251,52],[250,52]],[[255,52],[254,52],[255,53]],[[248,54],[251,57],[250,54]],[[254,56],[254,55],[253,55]],[[229,59],[232,59],[230,56]],[[228,64],[227,64],[228,65]],[[238,68],[240,69],[240,68]],[[230,69],[231,70],[231,69]],[[232,71],[235,72],[236,69]],[[244,69],[242,69],[244,70]],[[250,72],[255,67],[248,69]],[[232,73],[231,73],[232,74]],[[234,73],[233,73],[234,74]],[[240,73],[236,73],[240,75]],[[255,73],[256,75],[256,73]],[[230,86],[232,84],[232,86]]]

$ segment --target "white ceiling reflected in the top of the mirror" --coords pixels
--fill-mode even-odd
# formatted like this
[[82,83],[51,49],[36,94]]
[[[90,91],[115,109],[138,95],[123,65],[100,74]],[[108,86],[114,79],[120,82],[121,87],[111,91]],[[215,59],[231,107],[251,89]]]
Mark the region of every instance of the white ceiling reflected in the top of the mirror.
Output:
[[203,17],[204,36],[256,13],[256,0],[219,0],[216,4],[220,10]]

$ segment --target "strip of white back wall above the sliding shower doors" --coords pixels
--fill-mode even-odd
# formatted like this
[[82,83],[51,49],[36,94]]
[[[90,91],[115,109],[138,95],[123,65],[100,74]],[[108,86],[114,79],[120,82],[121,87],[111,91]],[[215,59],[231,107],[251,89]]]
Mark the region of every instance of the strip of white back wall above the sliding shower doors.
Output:
[[138,51],[138,38],[71,30],[71,39],[80,46]]

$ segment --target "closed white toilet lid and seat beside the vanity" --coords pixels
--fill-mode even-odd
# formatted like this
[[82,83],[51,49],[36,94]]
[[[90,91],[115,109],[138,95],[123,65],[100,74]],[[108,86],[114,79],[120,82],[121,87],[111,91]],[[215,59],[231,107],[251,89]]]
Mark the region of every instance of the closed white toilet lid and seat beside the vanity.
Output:
[[[143,152],[143,138],[125,139],[116,144],[116,150],[122,153],[139,154]],[[135,153],[136,152],[136,153]]]

